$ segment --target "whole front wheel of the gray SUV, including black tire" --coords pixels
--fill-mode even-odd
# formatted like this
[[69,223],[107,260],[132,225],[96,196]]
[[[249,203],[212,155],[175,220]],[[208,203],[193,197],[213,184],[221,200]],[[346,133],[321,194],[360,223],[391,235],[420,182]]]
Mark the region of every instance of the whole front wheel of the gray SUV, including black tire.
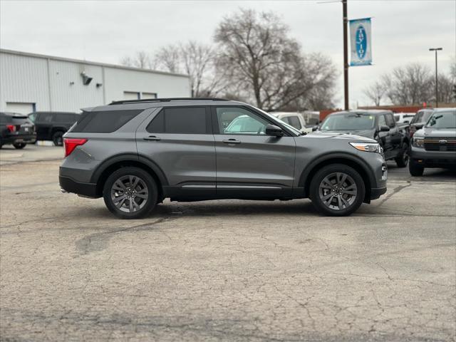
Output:
[[[341,174],[347,177],[343,178],[344,176],[341,176],[339,179],[339,175]],[[338,180],[341,180],[341,185],[331,183],[331,187],[324,187],[323,184],[327,184],[327,181],[323,183],[323,180],[331,180],[331,177],[334,177],[334,175],[336,175]],[[354,187],[353,183],[355,185]],[[353,195],[347,195],[347,192],[354,193]],[[363,178],[353,167],[348,165],[326,165],[321,170],[318,170],[311,180],[310,198],[312,203],[318,212],[328,216],[347,216],[352,214],[361,206],[365,195],[366,185],[364,185]],[[328,196],[329,199],[323,201]],[[338,205],[338,209],[334,208],[336,205]]]

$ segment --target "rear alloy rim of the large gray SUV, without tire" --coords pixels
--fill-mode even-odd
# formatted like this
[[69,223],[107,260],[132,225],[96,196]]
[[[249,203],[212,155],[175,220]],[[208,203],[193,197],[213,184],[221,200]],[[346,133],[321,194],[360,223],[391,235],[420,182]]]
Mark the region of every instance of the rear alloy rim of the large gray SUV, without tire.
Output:
[[111,199],[122,212],[138,212],[149,198],[149,190],[144,180],[138,176],[125,175],[115,182],[110,191]]

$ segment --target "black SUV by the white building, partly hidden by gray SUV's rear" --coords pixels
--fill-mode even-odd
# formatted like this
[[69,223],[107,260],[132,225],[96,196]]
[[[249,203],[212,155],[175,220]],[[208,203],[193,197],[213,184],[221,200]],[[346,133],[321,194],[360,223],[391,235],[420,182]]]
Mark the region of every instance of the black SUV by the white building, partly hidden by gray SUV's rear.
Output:
[[78,121],[80,114],[66,112],[33,112],[28,118],[35,123],[37,140],[52,140],[62,146],[62,136]]

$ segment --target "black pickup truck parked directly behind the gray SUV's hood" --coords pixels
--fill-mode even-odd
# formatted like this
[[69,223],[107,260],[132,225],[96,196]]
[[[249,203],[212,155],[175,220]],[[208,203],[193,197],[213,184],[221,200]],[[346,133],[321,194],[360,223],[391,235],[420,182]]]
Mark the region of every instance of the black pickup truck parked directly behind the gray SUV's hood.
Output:
[[390,110],[348,110],[328,115],[314,130],[323,133],[361,135],[377,140],[385,160],[406,167],[409,160],[409,125],[395,122]]

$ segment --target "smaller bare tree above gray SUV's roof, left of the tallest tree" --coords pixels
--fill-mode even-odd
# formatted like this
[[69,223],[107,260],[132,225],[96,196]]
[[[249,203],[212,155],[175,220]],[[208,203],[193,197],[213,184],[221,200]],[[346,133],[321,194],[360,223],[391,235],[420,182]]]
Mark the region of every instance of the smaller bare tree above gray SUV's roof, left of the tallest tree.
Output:
[[217,95],[224,88],[224,73],[217,72],[217,53],[212,46],[195,41],[164,46],[155,54],[154,66],[189,75],[194,97]]

